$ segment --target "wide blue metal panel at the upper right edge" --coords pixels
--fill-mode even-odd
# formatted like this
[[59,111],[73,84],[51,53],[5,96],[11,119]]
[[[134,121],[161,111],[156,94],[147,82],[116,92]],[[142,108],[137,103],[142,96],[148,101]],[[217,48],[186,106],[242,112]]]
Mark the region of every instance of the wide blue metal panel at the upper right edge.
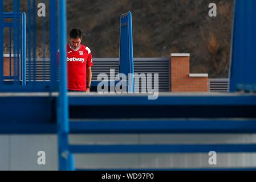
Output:
[[230,65],[230,92],[256,91],[256,1],[236,0]]

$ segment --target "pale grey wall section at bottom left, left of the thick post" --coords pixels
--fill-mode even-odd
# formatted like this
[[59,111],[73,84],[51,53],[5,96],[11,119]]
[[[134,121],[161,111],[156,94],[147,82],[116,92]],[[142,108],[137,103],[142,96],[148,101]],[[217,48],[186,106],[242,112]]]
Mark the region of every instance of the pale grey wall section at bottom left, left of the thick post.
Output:
[[[1,170],[58,170],[56,135],[0,135]],[[46,165],[38,165],[38,151]]]

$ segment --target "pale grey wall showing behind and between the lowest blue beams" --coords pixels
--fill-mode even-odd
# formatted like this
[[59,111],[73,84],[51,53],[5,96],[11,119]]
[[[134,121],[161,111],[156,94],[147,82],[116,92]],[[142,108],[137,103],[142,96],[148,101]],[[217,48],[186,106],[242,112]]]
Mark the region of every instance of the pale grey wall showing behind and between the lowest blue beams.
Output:
[[[71,135],[72,144],[131,143],[256,143],[256,135]],[[56,135],[0,135],[0,170],[58,170]],[[38,151],[46,165],[38,165]],[[86,154],[75,155],[78,168],[203,168],[256,167],[256,154]]]

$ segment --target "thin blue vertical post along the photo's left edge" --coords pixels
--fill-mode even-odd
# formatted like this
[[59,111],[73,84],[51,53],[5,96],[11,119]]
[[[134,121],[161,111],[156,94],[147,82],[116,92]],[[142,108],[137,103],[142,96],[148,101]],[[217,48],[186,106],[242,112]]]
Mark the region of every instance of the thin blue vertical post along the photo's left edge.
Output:
[[3,0],[0,0],[0,87],[3,82]]

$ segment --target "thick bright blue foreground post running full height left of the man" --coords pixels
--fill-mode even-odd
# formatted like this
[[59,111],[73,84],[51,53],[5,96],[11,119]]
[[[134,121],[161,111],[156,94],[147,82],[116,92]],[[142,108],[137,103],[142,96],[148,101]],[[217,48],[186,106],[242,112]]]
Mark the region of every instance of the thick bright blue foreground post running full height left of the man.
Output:
[[59,169],[73,170],[73,156],[68,150],[68,97],[67,97],[67,25],[66,25],[66,0],[59,1],[59,108],[58,108],[58,144],[59,144]]

